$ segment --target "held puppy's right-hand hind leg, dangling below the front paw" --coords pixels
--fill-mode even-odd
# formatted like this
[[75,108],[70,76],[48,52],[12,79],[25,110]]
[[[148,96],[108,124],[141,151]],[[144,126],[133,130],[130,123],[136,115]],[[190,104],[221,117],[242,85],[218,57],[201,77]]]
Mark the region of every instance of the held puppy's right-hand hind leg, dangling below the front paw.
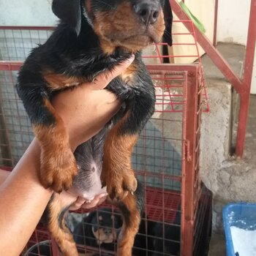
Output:
[[138,183],[135,195],[128,194],[117,203],[123,217],[123,226],[118,236],[117,255],[132,256],[132,246],[140,227],[143,208],[143,187]]

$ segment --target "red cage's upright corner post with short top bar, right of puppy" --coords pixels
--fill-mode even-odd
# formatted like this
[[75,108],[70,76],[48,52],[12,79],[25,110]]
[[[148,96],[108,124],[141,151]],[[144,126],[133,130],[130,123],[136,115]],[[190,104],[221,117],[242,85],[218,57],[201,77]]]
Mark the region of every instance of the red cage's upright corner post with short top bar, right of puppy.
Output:
[[[199,64],[189,65],[148,65],[148,69],[172,71],[187,70],[187,89],[184,92],[183,115],[183,167],[182,167],[182,189],[181,189],[181,256],[192,256],[194,248],[194,230],[197,204],[200,198],[200,188],[195,184],[197,180],[196,164],[199,155],[199,140],[197,131],[200,130],[200,84],[202,83],[202,67]],[[187,97],[189,95],[189,97]]]

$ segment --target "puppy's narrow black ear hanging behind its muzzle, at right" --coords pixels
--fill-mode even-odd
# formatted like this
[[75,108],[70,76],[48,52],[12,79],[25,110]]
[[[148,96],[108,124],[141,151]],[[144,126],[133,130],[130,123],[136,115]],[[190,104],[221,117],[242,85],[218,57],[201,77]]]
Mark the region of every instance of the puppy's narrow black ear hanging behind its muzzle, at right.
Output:
[[170,0],[165,0],[164,6],[165,15],[165,34],[163,36],[163,42],[167,42],[168,45],[173,45],[172,27],[173,27],[173,12],[170,7]]

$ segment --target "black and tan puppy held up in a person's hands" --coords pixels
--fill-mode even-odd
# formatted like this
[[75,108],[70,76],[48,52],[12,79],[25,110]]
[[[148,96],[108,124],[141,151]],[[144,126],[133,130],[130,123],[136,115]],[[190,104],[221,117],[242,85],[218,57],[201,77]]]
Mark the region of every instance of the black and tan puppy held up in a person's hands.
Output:
[[[154,112],[154,86],[140,50],[161,41],[165,4],[170,8],[165,0],[53,0],[53,12],[61,22],[44,45],[31,51],[18,75],[18,94],[41,146],[42,184],[56,192],[72,187],[81,195],[97,195],[91,186],[95,185],[95,176],[88,174],[97,170],[96,187],[106,186],[125,220],[118,238],[118,255],[131,255],[138,232],[142,192],[140,187],[137,189],[130,158],[140,130]],[[135,61],[107,87],[124,102],[125,109],[110,121],[102,135],[78,148],[76,162],[51,99],[58,91],[94,80],[132,54]],[[95,143],[101,136],[102,141]],[[87,162],[83,166],[89,167],[79,172],[79,155],[86,155],[83,164],[88,159],[99,164]],[[67,208],[58,194],[53,195],[46,211],[48,227],[64,255],[74,256],[75,243],[63,219]]]

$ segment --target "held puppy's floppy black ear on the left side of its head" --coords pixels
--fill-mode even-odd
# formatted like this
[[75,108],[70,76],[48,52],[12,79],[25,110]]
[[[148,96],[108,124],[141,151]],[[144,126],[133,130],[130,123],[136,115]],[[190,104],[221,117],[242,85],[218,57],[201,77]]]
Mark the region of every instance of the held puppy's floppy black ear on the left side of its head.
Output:
[[81,29],[80,0],[53,0],[53,13],[79,35]]

